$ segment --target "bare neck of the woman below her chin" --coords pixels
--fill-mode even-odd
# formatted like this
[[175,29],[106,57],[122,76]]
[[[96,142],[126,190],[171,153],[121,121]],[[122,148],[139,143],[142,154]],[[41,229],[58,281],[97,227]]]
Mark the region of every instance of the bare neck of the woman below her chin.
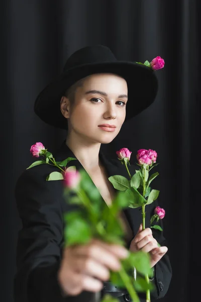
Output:
[[71,149],[84,169],[92,171],[99,168],[100,162],[98,155],[100,143],[91,143],[87,141],[86,138],[78,137],[73,133],[73,137],[71,134],[68,134],[66,145]]

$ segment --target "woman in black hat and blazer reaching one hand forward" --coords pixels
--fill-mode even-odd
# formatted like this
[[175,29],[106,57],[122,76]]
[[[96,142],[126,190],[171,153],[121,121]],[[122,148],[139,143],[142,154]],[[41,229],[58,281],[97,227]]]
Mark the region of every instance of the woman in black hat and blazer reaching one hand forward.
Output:
[[[100,145],[110,143],[125,119],[147,108],[157,93],[154,72],[133,62],[118,61],[108,47],[84,47],[67,60],[60,77],[48,85],[35,102],[36,114],[46,123],[68,129],[56,160],[75,157],[110,204],[116,191],[111,175],[124,175],[117,161],[109,161]],[[129,100],[128,100],[129,97]],[[62,195],[62,182],[47,182],[50,165],[26,170],[16,184],[16,200],[23,228],[17,247],[16,302],[93,301],[94,293],[110,291],[130,301],[126,291],[109,281],[109,270],[118,270],[127,249],[92,240],[88,245],[63,248],[63,212],[71,210]],[[146,207],[147,225],[156,202]],[[128,249],[151,255],[156,288],[152,297],[163,297],[171,279],[171,266],[162,232],[142,231],[141,213],[128,208],[121,213]],[[155,237],[155,238],[154,238]],[[157,242],[161,247],[158,247]],[[153,253],[155,251],[155,254]],[[141,301],[144,295],[141,294]]]

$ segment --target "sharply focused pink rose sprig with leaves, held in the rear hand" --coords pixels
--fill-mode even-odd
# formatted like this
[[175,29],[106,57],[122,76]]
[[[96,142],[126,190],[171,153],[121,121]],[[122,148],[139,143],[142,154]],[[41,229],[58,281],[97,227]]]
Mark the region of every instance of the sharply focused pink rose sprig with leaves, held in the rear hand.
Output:
[[[157,153],[152,149],[139,149],[136,155],[138,160],[139,170],[136,170],[135,174],[131,176],[128,164],[130,165],[130,157],[132,152],[128,148],[122,148],[116,152],[118,159],[121,161],[122,165],[125,165],[130,180],[121,175],[111,176],[109,178],[110,182],[113,184],[114,188],[120,191],[125,191],[125,196],[129,202],[128,206],[132,208],[141,207],[142,208],[142,230],[145,229],[145,206],[152,203],[157,199],[159,191],[151,189],[151,182],[159,175],[155,172],[149,176],[149,172],[158,164],[156,164]],[[154,211],[154,215],[151,217],[150,224],[151,228],[162,231],[160,225],[152,223],[156,219],[162,219],[165,215],[165,210],[157,206]],[[158,244],[159,245],[159,244]],[[149,276],[146,275],[146,281],[149,283]],[[150,299],[150,291],[147,289],[146,292],[147,302]]]

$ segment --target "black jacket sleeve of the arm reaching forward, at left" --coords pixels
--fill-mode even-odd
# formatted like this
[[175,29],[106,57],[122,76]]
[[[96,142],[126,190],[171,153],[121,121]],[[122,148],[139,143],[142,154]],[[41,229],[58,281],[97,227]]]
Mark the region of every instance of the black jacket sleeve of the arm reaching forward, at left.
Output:
[[[57,280],[62,257],[62,181],[46,181],[52,171],[41,165],[26,170],[18,179],[15,197],[22,229],[17,242],[15,302],[91,301],[92,292],[64,297]],[[48,169],[48,168],[45,168]]]

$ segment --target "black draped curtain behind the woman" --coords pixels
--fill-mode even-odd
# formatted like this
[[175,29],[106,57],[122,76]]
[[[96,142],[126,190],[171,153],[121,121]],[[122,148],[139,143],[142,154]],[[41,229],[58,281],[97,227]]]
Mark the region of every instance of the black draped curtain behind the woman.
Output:
[[118,59],[144,62],[159,55],[165,60],[156,71],[154,104],[103,148],[115,157],[117,149],[128,147],[133,163],[139,148],[158,153],[154,187],[166,210],[164,235],[173,269],[161,301],[198,301],[200,1],[7,0],[1,12],[1,301],[13,302],[21,228],[15,183],[33,161],[32,144],[41,141],[54,153],[66,135],[35,115],[35,98],[72,52],[93,44],[109,46]]

